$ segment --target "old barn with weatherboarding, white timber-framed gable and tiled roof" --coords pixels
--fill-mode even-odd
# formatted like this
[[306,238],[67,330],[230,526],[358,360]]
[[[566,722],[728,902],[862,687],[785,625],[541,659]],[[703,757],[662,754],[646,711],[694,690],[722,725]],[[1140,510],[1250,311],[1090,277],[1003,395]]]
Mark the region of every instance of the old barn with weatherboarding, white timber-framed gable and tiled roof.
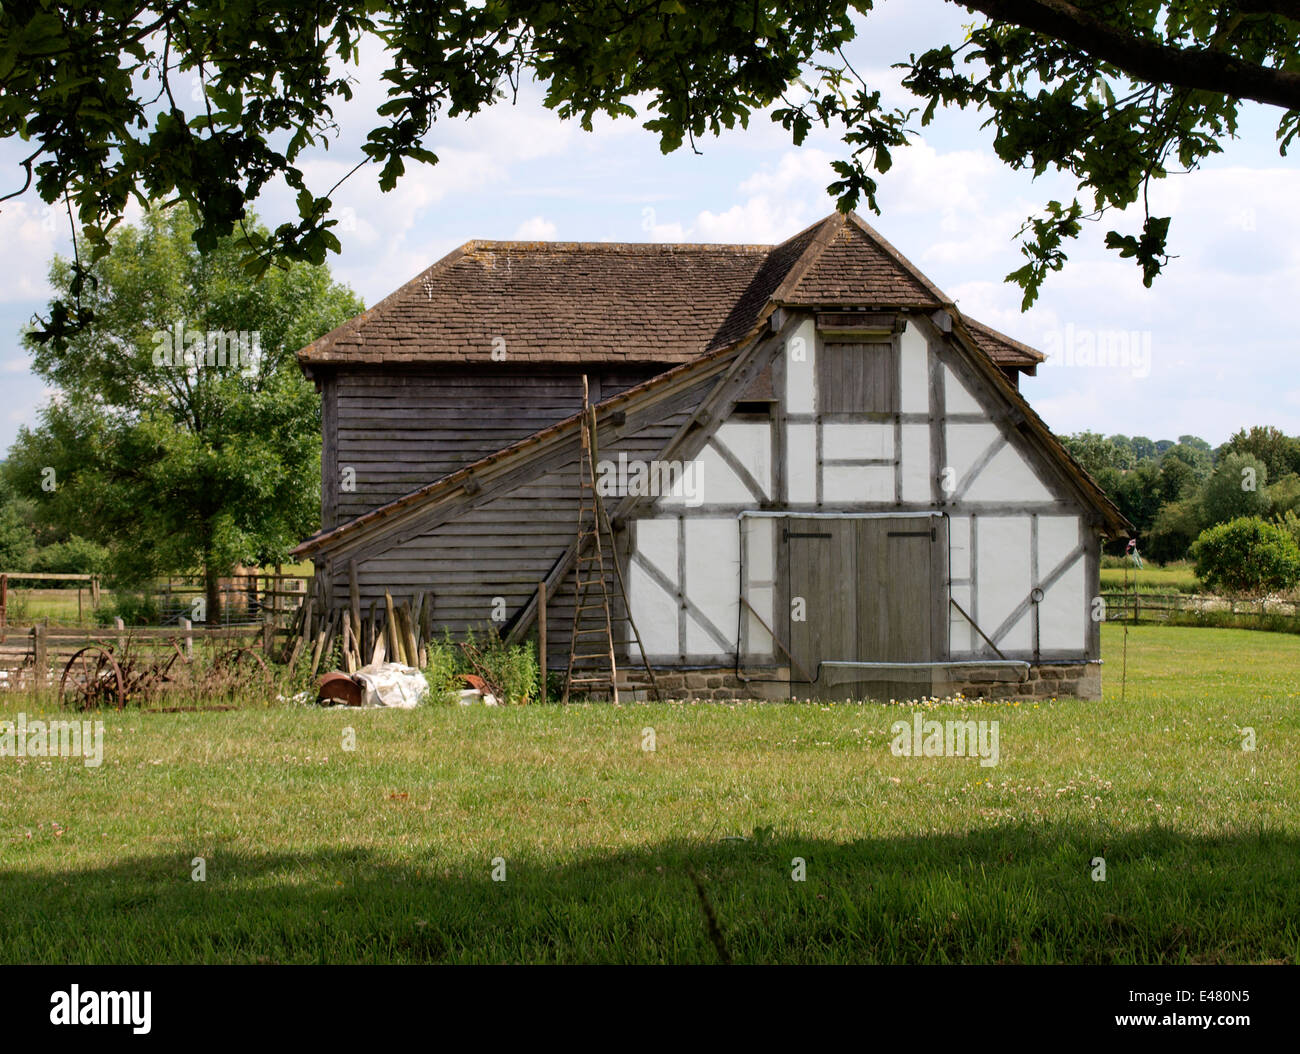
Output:
[[614,647],[664,694],[1100,695],[1128,524],[1020,395],[1043,355],[855,214],[779,246],[469,242],[299,361],[326,610],[428,598],[434,632],[542,633],[564,669],[593,422]]

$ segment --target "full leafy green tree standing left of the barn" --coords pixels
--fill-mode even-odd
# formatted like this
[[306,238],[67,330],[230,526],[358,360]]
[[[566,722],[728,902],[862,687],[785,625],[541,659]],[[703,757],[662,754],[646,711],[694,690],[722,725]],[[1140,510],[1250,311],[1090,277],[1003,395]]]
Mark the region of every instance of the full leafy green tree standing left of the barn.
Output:
[[[194,224],[172,208],[120,227],[83,290],[94,325],[61,352],[29,335],[58,394],[5,470],[126,580],[202,567],[216,620],[221,574],[282,559],[320,524],[320,404],[295,352],[361,304],[320,266],[250,282],[234,239],[200,255]],[[74,281],[56,259],[56,292]]]

